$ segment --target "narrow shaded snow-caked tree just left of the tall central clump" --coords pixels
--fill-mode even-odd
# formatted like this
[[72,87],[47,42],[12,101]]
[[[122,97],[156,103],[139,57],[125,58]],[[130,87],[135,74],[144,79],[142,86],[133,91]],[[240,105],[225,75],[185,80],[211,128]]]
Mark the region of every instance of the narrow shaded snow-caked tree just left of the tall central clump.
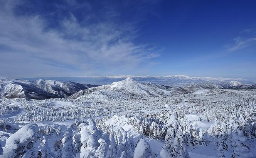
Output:
[[72,143],[72,130],[67,128],[67,131],[62,138],[62,158],[74,158],[76,156],[76,150]]

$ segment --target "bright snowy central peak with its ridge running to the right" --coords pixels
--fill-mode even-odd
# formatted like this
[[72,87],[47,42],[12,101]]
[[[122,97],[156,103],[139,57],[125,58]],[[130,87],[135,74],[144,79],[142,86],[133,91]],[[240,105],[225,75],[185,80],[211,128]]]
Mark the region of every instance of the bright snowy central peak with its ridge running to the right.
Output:
[[[231,81],[227,84],[226,88],[229,89],[255,89],[255,85],[241,86],[236,85],[237,81]],[[126,78],[122,81],[116,81],[109,85],[102,85],[98,87],[88,88],[86,90],[81,90],[73,95],[69,96],[71,99],[76,99],[79,97],[87,98],[98,98],[104,96],[107,98],[111,96],[115,98],[123,99],[146,99],[147,97],[166,97],[167,95],[178,94],[178,93],[192,93],[197,90],[202,89],[222,89],[221,85],[216,83],[189,83],[183,86],[164,86],[151,82],[139,82],[133,80],[131,77]],[[101,98],[102,99],[102,98]]]

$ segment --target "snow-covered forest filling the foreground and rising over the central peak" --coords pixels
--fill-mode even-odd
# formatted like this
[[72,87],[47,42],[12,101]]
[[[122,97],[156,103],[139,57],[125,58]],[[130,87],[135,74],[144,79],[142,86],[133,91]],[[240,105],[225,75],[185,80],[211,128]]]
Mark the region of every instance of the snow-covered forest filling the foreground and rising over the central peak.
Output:
[[127,78],[0,100],[1,158],[255,158],[256,91]]

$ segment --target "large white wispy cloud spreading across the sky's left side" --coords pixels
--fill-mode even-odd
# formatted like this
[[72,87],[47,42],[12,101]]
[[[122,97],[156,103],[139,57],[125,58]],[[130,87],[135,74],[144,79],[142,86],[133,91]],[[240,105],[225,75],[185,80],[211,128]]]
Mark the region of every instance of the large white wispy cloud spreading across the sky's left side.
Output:
[[130,71],[159,55],[151,45],[133,42],[136,30],[132,27],[111,22],[81,25],[70,13],[61,21],[60,30],[45,29],[45,18],[17,16],[13,5],[7,2],[0,11],[0,67],[5,70],[0,76]]

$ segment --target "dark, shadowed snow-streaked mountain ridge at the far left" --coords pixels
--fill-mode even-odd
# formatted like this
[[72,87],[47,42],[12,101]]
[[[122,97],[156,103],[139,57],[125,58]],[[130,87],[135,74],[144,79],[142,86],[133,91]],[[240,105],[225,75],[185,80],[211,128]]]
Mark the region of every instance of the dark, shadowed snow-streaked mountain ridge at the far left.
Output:
[[15,80],[0,79],[1,98],[67,98],[68,96],[96,85],[85,85],[75,82],[60,82],[54,80]]

